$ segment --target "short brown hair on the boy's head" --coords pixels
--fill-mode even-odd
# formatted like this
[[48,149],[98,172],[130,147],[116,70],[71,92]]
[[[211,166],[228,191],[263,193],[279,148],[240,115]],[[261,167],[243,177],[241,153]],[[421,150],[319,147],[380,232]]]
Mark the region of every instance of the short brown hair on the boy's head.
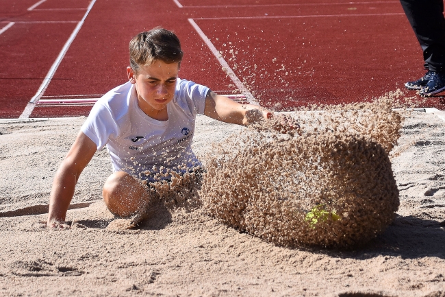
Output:
[[141,32],[131,39],[130,65],[137,71],[140,65],[151,64],[154,60],[166,63],[181,62],[183,51],[175,33],[156,27],[150,31]]

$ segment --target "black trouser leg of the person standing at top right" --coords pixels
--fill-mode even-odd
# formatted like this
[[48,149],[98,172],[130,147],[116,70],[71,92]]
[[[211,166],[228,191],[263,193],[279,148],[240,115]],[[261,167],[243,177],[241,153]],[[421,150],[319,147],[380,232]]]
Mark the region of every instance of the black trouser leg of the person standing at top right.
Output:
[[423,50],[425,68],[445,72],[443,0],[401,0],[403,10]]

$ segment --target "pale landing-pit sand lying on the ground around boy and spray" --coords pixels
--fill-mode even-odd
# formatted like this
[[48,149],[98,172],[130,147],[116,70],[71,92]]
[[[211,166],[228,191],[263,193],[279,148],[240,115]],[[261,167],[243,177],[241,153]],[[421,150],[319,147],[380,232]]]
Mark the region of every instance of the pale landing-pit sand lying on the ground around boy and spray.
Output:
[[[47,230],[55,171],[84,118],[0,123],[0,296],[445,296],[445,121],[412,112],[392,158],[401,206],[357,250],[290,249],[196,210],[159,207],[105,229],[107,152],[84,170],[67,220]],[[237,126],[199,117],[195,152]]]

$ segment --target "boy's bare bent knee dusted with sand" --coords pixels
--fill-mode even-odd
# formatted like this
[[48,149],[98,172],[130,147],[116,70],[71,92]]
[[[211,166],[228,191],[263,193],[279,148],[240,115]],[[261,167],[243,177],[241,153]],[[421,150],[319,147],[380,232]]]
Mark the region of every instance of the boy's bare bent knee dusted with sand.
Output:
[[129,217],[140,209],[147,191],[136,178],[117,171],[105,181],[102,194],[107,208],[114,215]]

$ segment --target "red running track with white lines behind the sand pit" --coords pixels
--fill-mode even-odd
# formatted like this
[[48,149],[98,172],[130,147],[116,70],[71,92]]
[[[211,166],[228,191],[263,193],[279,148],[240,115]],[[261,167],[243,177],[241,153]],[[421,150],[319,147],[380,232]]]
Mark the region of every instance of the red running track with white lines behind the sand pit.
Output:
[[159,25],[181,39],[181,78],[277,110],[363,101],[423,74],[398,1],[0,0],[0,118],[88,115],[127,81],[131,37]]

